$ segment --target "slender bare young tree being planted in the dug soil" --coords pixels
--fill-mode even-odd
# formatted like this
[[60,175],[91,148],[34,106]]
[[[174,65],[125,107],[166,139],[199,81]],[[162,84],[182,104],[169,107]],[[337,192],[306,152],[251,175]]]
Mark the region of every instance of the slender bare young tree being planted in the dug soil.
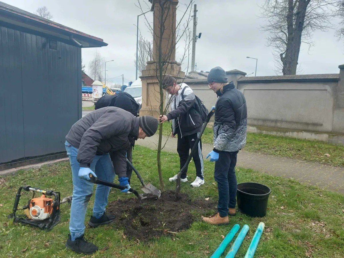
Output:
[[[159,1],[151,1],[155,2],[155,4],[159,3],[159,11],[154,11],[154,15],[156,15],[157,24],[155,24],[158,28],[158,30],[154,30],[152,28],[152,24],[150,24],[146,18],[146,25],[149,31],[153,34],[153,45],[156,46],[156,50],[153,51],[152,54],[152,61],[148,62],[148,64],[152,65],[154,68],[151,68],[150,71],[153,74],[150,74],[149,76],[154,76],[157,81],[159,88],[155,89],[156,94],[152,96],[152,94],[149,94],[149,100],[151,101],[151,98],[155,98],[154,100],[159,103],[158,107],[155,107],[154,105],[151,105],[151,103],[146,103],[147,106],[151,108],[151,112],[158,113],[159,115],[165,115],[170,107],[171,104],[171,98],[167,98],[168,93],[163,89],[162,81],[164,76],[171,75],[171,65],[182,65],[185,61],[189,63],[189,57],[190,57],[190,49],[191,49],[191,42],[192,42],[192,29],[190,27],[192,16],[191,16],[191,6],[193,3],[193,0],[186,1],[187,3],[184,3],[184,6],[186,7],[186,10],[181,11],[179,15],[181,15],[181,19],[176,22],[175,29],[174,25],[171,25],[169,23],[169,17],[170,15],[176,15],[175,11],[177,10],[175,7],[172,7],[172,0],[159,0]],[[138,0],[138,6],[141,9],[142,13],[146,10],[143,10],[140,4],[140,1]],[[183,6],[183,7],[184,7]],[[150,8],[150,7],[148,7]],[[172,12],[172,13],[171,13]],[[164,41],[164,43],[163,43]],[[180,45],[176,48],[176,46],[180,43]],[[179,52],[180,50],[180,52]],[[180,59],[176,61],[175,59],[175,52],[180,56]],[[187,64],[186,67],[189,67]],[[181,71],[179,71],[181,72]],[[187,73],[187,71],[186,71]],[[181,75],[177,75],[177,77],[181,77]],[[185,77],[182,78],[184,80]],[[158,174],[159,174],[159,181],[160,181],[160,189],[161,191],[164,190],[164,182],[162,177],[162,171],[161,171],[161,150],[164,148],[164,145],[162,144],[162,124],[159,126],[159,141],[157,144],[157,166],[158,166]],[[167,142],[167,140],[166,140]],[[166,144],[165,142],[165,144]]]

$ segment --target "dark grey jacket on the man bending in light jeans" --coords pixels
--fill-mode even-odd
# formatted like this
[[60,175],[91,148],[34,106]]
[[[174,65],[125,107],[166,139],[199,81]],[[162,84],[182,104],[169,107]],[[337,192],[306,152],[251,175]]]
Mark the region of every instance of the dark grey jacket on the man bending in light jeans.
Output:
[[77,121],[66,140],[78,149],[81,167],[89,167],[95,155],[113,152],[115,171],[126,176],[126,152],[137,140],[139,118],[117,107],[99,108]]

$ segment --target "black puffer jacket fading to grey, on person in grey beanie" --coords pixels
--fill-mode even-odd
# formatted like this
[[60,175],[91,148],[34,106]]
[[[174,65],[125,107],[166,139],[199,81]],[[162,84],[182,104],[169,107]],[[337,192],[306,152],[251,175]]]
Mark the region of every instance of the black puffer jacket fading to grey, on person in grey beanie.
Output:
[[237,151],[246,144],[247,107],[244,94],[233,82],[216,93],[214,151]]

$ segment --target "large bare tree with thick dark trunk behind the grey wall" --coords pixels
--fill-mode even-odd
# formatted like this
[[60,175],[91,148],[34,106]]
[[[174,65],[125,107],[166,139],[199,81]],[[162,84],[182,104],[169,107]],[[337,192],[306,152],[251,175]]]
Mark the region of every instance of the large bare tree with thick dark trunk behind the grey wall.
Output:
[[315,30],[332,28],[333,6],[336,0],[266,0],[261,8],[261,17],[269,32],[267,44],[274,48],[277,73],[296,74],[301,43],[313,46]]

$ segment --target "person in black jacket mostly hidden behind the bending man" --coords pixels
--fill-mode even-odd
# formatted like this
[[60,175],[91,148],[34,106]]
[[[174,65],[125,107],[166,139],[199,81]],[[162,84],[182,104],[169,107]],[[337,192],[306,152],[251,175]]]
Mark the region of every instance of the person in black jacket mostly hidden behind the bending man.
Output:
[[[104,95],[103,97],[97,100],[97,102],[95,103],[95,109],[99,109],[103,107],[118,107],[130,112],[131,114],[137,117],[139,104],[136,103],[135,98],[133,98],[129,93],[117,92],[114,95]],[[132,140],[131,146],[128,148],[128,151],[127,151],[127,159],[130,161],[130,163],[132,163],[132,150],[134,146],[135,146],[135,140]],[[112,160],[112,163],[114,163],[116,160],[114,152],[110,152],[110,158]],[[115,163],[114,163],[114,168],[116,168]],[[132,168],[129,164],[127,164],[127,177],[128,177],[129,184],[130,184],[131,174],[132,174]],[[130,193],[130,192],[127,192],[127,193]]]

